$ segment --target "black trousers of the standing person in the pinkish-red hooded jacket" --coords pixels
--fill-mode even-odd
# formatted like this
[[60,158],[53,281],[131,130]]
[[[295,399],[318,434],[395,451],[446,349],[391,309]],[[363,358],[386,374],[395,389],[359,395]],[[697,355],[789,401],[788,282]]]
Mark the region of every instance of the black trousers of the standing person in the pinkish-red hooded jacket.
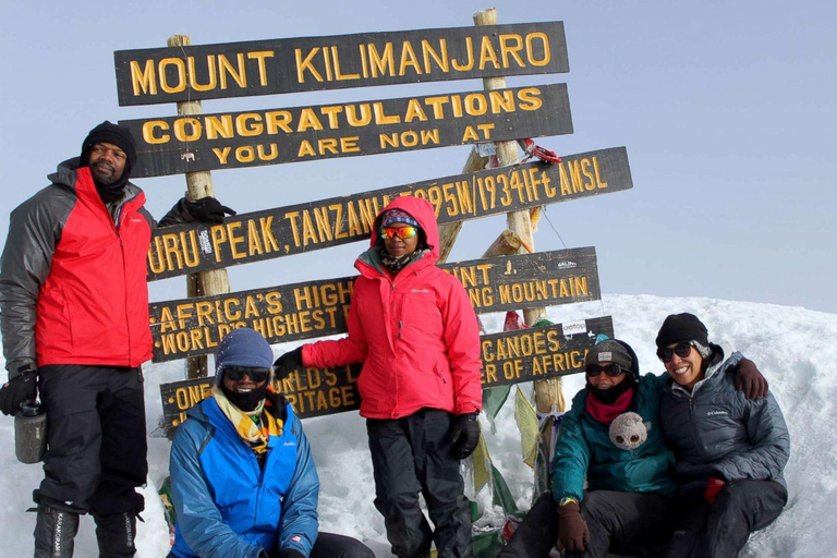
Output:
[[[421,409],[398,420],[366,420],[375,507],[384,515],[387,539],[396,556],[429,554],[471,558],[471,510],[449,436],[453,415]],[[424,495],[435,525],[430,530],[418,504]]]

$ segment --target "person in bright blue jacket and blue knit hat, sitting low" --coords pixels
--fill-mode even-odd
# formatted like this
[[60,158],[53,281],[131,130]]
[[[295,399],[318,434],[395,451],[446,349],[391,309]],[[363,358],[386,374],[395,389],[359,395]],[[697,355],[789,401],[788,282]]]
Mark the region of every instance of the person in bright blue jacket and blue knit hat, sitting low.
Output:
[[302,424],[270,388],[274,355],[241,328],[216,352],[211,397],[171,447],[175,558],[372,558],[362,543],[317,533],[319,478]]

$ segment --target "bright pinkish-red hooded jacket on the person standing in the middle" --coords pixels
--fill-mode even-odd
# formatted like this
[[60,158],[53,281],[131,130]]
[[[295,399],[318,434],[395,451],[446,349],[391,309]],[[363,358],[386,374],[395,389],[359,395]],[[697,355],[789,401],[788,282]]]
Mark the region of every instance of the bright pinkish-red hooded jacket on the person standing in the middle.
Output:
[[480,411],[480,328],[462,283],[435,265],[439,230],[433,206],[417,197],[395,199],[375,219],[372,246],[380,215],[395,208],[418,221],[432,250],[395,278],[359,258],[348,337],[304,345],[303,362],[363,362],[357,388],[367,418],[398,418],[423,407]]

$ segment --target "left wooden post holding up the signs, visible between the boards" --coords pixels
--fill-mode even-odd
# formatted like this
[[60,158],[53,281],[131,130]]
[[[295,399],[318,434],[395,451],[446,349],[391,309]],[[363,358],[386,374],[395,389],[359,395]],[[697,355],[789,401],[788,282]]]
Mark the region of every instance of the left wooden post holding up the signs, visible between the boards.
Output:
[[[187,47],[192,45],[189,35],[173,35],[166,41],[169,47]],[[199,100],[178,102],[178,114],[203,113]],[[202,197],[215,197],[213,174],[209,171],[186,172],[186,197],[195,201]],[[230,292],[230,279],[227,269],[210,269],[186,277],[186,290],[190,298]],[[186,361],[186,378],[205,378],[207,376],[207,355],[190,356]]]

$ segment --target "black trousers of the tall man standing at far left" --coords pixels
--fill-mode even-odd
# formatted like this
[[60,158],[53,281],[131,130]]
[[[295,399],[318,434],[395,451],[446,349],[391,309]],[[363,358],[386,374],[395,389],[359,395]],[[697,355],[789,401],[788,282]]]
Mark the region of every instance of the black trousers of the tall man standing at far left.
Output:
[[38,388],[48,448],[35,501],[96,515],[141,512],[135,488],[148,473],[141,368],[47,365]]

